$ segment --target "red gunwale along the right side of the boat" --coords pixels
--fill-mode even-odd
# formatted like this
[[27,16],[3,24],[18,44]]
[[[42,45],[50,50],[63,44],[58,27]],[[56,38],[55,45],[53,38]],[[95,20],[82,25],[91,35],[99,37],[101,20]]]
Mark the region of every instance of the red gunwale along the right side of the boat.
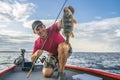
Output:
[[97,69],[91,69],[91,68],[83,68],[83,67],[78,67],[78,66],[73,66],[73,65],[65,65],[66,68],[74,69],[74,70],[80,70],[88,73],[93,73],[96,75],[101,75],[101,76],[106,76],[109,78],[117,79],[120,80],[120,75],[114,74],[114,73],[109,73],[109,72],[104,72],[102,70],[97,70]]

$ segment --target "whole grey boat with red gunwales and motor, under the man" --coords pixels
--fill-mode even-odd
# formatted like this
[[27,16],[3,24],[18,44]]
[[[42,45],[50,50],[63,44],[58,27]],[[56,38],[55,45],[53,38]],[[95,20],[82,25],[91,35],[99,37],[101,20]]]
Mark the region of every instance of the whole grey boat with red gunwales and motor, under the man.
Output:
[[[45,78],[42,75],[43,65],[41,63],[34,64],[31,75],[27,78],[27,73],[33,63],[25,61],[24,58],[21,63],[24,52],[24,50],[21,51],[21,56],[14,61],[13,65],[0,71],[0,80],[57,80],[59,68],[55,70],[50,78]],[[66,65],[65,73],[67,80],[120,80],[120,75],[118,74],[73,65]]]

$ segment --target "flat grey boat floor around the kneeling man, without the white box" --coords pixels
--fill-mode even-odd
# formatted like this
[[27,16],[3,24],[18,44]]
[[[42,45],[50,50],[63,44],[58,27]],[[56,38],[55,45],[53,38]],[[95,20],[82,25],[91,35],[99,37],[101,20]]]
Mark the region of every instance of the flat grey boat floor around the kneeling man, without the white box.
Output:
[[[21,68],[16,68],[15,70],[9,72],[1,80],[57,80],[58,71],[55,71],[53,76],[50,78],[45,78],[42,75],[42,67],[38,67],[32,71],[29,78],[26,77],[28,71],[22,71]],[[72,76],[78,74],[70,70],[65,70],[67,80],[73,80]]]

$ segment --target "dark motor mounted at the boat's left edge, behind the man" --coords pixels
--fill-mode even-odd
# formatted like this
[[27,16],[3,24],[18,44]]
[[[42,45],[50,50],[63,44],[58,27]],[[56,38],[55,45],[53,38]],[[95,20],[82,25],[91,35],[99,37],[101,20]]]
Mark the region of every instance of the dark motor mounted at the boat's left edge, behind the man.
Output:
[[25,49],[21,49],[21,55],[14,60],[14,64],[22,65],[25,61],[24,55],[25,55]]

